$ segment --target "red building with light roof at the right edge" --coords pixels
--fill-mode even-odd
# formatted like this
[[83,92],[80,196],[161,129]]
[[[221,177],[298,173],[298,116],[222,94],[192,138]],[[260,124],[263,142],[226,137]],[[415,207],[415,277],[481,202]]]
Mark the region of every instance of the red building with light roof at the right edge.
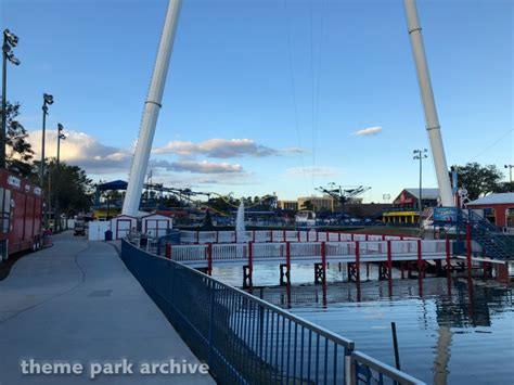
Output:
[[500,228],[514,231],[514,193],[490,194],[470,202],[466,207],[481,209],[484,218]]

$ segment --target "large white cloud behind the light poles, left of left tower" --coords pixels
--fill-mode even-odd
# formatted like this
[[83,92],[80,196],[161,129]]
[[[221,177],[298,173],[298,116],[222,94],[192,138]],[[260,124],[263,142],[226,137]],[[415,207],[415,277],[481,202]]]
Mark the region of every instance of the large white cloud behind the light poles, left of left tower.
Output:
[[[41,130],[30,131],[28,142],[35,151],[35,159],[41,158]],[[125,149],[104,145],[95,138],[77,131],[66,131],[66,140],[61,141],[61,159],[77,165],[89,174],[128,172],[132,153]],[[47,131],[44,156],[56,157],[57,133]]]

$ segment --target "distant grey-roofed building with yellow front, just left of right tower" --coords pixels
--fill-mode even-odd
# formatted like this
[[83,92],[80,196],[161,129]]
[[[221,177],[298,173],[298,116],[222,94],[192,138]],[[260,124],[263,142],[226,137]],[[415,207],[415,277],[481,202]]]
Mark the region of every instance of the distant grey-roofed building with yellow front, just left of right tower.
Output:
[[[424,209],[437,206],[439,189],[422,189],[421,198]],[[386,223],[419,223],[420,189],[403,189],[382,218]]]

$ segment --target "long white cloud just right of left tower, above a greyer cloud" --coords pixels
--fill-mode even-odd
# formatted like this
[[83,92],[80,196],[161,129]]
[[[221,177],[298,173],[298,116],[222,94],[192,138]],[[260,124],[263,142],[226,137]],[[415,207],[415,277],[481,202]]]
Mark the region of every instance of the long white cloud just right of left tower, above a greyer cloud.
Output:
[[205,155],[215,158],[230,158],[240,156],[272,156],[279,155],[280,151],[257,144],[252,139],[208,139],[194,143],[175,140],[162,147],[155,147],[154,154],[177,154],[181,156]]

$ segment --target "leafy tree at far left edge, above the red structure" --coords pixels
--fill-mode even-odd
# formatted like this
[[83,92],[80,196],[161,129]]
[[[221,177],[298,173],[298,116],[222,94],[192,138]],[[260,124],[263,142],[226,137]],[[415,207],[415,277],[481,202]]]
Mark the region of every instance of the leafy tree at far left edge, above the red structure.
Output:
[[27,142],[28,133],[16,120],[20,107],[20,103],[7,103],[5,167],[11,172],[30,178],[37,171],[31,165],[34,151],[30,143]]

